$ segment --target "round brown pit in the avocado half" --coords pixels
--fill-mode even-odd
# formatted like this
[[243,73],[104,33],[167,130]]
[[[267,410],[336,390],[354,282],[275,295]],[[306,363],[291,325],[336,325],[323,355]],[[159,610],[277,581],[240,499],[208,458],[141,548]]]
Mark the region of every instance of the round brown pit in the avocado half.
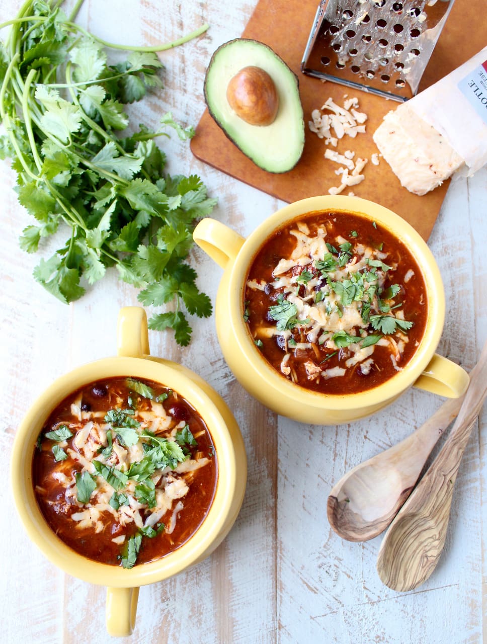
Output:
[[227,86],[227,100],[236,115],[250,125],[271,125],[279,109],[274,81],[267,71],[255,65],[234,75]]

